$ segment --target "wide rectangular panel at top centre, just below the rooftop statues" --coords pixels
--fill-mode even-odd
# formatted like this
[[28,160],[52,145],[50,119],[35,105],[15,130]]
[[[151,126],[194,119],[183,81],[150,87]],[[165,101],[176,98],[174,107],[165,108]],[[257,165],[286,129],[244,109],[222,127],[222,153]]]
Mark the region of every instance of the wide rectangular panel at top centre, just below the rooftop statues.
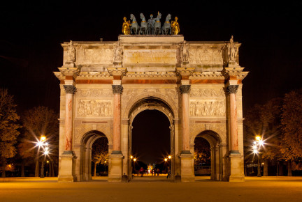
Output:
[[124,63],[177,63],[176,49],[124,50]]

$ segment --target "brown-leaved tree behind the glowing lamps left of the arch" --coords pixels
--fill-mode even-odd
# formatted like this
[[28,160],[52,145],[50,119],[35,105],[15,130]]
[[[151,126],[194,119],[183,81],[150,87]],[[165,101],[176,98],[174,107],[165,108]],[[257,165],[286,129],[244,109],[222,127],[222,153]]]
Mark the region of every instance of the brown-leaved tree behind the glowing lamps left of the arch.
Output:
[[[19,144],[19,152],[23,160],[27,157],[34,158],[36,162],[35,176],[38,177],[39,160],[41,154],[38,149],[34,148],[36,142],[44,135],[50,144],[50,176],[54,176],[54,164],[58,163],[59,158],[59,121],[58,114],[48,107],[34,107],[25,111],[22,115],[22,124],[24,133],[22,134],[22,142]],[[31,147],[30,147],[31,146]],[[31,149],[29,149],[31,148]],[[33,149],[34,148],[34,149]]]

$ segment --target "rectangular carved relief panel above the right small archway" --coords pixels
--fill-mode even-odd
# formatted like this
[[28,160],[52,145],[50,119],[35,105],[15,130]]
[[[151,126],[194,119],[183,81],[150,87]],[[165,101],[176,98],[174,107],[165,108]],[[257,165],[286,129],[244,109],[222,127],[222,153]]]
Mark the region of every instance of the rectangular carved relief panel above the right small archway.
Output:
[[224,100],[191,100],[190,116],[225,116]]

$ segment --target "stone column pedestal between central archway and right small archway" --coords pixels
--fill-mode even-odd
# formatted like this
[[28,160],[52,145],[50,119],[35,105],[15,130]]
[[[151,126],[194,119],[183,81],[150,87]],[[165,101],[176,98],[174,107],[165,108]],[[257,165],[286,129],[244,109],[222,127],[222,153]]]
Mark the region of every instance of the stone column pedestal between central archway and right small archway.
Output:
[[194,159],[190,151],[183,150],[180,154],[180,176],[182,182],[194,182]]

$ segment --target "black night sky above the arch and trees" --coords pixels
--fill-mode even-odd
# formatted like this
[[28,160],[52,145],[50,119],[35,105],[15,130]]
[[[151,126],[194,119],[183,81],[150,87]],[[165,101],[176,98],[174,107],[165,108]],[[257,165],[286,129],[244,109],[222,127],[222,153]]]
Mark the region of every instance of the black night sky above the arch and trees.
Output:
[[[146,3],[142,3],[146,2]],[[6,1],[0,10],[0,87],[18,111],[45,105],[59,111],[64,41],[117,40],[133,13],[178,17],[185,40],[241,42],[244,112],[302,87],[302,3],[285,1]]]

